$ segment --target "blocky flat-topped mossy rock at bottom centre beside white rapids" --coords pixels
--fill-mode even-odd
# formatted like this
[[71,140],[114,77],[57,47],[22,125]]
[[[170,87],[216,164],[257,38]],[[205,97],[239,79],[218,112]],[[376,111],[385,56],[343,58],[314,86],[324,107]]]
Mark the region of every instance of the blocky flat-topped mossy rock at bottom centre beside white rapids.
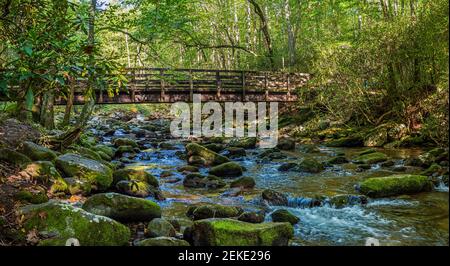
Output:
[[194,246],[286,246],[294,236],[289,223],[246,223],[233,219],[205,219],[192,226]]

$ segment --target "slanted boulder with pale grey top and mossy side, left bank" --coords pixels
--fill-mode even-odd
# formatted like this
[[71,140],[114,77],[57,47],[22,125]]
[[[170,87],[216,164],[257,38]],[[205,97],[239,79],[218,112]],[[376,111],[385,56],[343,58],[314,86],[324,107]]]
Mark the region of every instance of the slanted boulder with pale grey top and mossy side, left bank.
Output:
[[106,190],[113,181],[112,170],[108,166],[74,153],[59,156],[56,168],[67,177],[88,180],[97,190]]

